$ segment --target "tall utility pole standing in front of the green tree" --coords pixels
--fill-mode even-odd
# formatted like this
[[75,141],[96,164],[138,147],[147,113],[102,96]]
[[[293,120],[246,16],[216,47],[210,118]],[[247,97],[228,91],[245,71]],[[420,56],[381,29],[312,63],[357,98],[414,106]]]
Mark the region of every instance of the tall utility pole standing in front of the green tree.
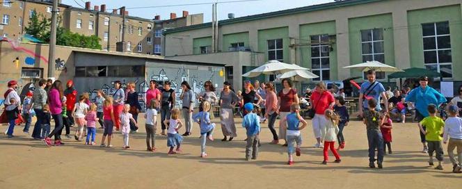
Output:
[[49,39],[49,54],[48,54],[48,77],[54,77],[54,52],[56,50],[56,20],[58,11],[58,0],[53,1],[51,10],[51,35]]

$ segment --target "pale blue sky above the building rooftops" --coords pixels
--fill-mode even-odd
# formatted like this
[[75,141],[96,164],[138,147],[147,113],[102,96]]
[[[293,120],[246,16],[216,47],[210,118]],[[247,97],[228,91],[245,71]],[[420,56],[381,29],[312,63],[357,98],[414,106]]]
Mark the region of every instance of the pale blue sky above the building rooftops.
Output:
[[[70,6],[79,7],[85,6],[86,0],[62,0]],[[320,3],[333,2],[334,0],[92,0],[91,7],[106,4],[106,11],[109,12],[113,8],[125,6],[129,15],[153,19],[154,15],[160,15],[161,19],[170,18],[170,13],[177,13],[177,17],[181,17],[182,10],[189,11],[189,14],[204,13],[204,22],[212,21],[212,3],[218,1],[218,19],[228,19],[228,13],[234,13],[235,17],[244,17],[248,15],[256,15],[260,13],[269,13],[277,10],[285,10],[289,8],[297,8],[302,6],[310,6]],[[220,3],[225,1],[241,1],[234,3]],[[129,3],[128,3],[129,2]],[[191,3],[209,3],[202,5],[175,6]],[[81,6],[79,6],[79,4]],[[134,7],[146,6],[168,6],[161,8],[139,8]]]

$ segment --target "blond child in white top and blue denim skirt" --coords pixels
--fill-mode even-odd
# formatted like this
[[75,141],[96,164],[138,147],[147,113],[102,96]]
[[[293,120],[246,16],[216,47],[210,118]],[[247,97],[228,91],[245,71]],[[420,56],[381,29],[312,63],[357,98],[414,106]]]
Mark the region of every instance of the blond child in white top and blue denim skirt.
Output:
[[[182,150],[180,149],[180,145],[183,142],[183,137],[178,134],[178,129],[183,126],[183,123],[178,119],[180,117],[180,110],[174,108],[172,110],[172,115],[170,120],[164,120],[164,124],[168,125],[167,131],[167,146],[170,147],[168,154],[177,154],[180,153]],[[174,147],[177,147],[175,151],[173,151]]]

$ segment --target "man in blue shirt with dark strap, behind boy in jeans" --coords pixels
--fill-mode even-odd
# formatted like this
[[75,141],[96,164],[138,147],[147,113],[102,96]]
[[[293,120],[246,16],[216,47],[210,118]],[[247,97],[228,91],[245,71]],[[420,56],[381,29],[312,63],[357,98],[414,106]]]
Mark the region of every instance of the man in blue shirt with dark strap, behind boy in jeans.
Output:
[[363,110],[368,110],[369,105],[367,104],[368,99],[376,99],[377,106],[376,110],[382,110],[380,106],[381,97],[383,98],[383,103],[385,104],[385,112],[388,112],[388,99],[385,94],[385,88],[383,88],[382,83],[376,81],[376,72],[374,70],[369,70],[366,72],[367,81],[361,85],[360,94],[359,94],[359,115],[363,116]]

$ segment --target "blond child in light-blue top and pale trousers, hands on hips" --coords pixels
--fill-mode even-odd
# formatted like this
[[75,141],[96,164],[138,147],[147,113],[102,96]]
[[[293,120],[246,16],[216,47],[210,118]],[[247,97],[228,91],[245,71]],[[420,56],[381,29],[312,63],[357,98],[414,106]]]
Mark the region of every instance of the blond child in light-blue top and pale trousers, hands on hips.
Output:
[[[212,123],[210,120],[210,103],[208,101],[202,102],[202,110],[196,115],[193,115],[193,120],[200,124],[200,157],[205,158],[207,157],[207,153],[205,153],[205,142],[207,142],[207,138],[210,141],[214,141],[212,135],[215,129],[215,123]],[[208,135],[208,137],[207,137]]]

